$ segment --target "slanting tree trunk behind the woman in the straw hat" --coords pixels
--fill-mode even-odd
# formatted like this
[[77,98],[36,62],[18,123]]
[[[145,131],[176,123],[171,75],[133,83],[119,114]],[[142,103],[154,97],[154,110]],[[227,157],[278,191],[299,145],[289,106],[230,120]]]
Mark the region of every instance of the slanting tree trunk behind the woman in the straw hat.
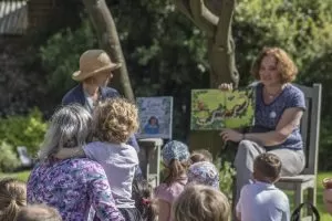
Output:
[[[115,62],[122,63],[114,78],[118,81],[121,85],[117,90],[120,90],[126,98],[134,101],[135,97],[128,77],[126,62],[121,49],[116,25],[105,0],[83,0],[83,2],[96,30],[100,48],[106,51]],[[116,76],[117,74],[120,76]]]

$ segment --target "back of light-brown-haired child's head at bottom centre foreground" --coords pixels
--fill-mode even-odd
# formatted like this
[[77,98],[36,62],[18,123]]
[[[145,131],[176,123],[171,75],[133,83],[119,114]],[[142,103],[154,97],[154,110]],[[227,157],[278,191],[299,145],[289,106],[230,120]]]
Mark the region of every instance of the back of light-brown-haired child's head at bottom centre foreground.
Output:
[[207,186],[189,186],[173,204],[175,221],[228,221],[230,206],[226,196]]

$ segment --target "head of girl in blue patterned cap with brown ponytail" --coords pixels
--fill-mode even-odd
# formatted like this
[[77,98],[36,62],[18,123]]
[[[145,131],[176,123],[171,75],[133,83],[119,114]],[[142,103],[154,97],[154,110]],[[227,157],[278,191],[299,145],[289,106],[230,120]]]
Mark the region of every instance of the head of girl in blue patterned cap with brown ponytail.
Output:
[[186,173],[189,166],[189,156],[188,146],[181,141],[172,140],[164,146],[162,150],[163,164],[166,170],[164,182],[170,185]]

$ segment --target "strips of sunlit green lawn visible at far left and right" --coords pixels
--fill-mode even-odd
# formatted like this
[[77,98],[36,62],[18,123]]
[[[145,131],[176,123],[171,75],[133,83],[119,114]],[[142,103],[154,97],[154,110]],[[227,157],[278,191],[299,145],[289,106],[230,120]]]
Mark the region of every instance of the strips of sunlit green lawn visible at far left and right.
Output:
[[[30,171],[21,171],[21,172],[14,172],[14,173],[0,173],[0,177],[15,177],[22,181],[27,181],[28,177],[30,175]],[[317,207],[321,214],[321,221],[329,221],[332,220],[331,215],[329,215],[325,212],[324,206],[323,206],[323,187],[322,187],[322,180],[325,177],[332,177],[332,172],[319,172],[318,180],[317,180]],[[292,193],[288,193],[290,200],[292,201]]]

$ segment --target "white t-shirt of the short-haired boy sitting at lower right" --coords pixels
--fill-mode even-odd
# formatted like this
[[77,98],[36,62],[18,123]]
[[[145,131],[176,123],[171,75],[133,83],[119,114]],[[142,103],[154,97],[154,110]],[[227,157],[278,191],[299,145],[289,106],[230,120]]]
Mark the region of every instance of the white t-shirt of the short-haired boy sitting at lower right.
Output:
[[241,221],[289,221],[288,197],[274,185],[256,181],[246,185],[237,204]]

